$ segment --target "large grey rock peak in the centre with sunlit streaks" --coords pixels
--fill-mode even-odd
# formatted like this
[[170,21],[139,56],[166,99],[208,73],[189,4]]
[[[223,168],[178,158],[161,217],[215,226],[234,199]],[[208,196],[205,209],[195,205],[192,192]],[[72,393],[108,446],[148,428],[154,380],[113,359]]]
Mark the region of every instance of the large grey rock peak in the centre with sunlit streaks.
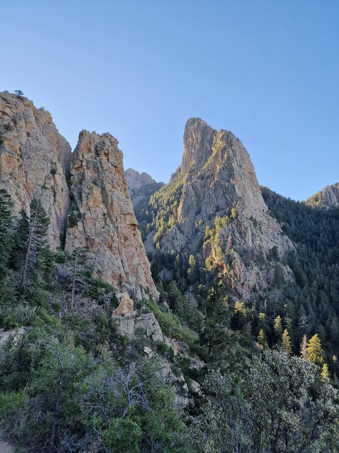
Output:
[[[257,258],[273,247],[284,256],[293,245],[269,215],[247,150],[231,132],[216,131],[200,118],[187,121],[183,139],[178,223],[162,238],[162,251],[185,249],[219,262],[235,291],[245,297],[255,285],[265,289],[269,272]],[[216,216],[227,215],[230,223],[217,240],[204,241],[206,226],[213,228]],[[286,278],[290,274],[287,267],[283,272]]]

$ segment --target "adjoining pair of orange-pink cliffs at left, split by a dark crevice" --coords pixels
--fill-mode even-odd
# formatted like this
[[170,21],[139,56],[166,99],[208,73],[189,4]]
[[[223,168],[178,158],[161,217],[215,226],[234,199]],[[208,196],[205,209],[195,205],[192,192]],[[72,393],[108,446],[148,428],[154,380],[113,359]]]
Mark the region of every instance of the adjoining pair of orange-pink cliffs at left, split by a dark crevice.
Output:
[[[66,179],[71,178],[69,190]],[[50,114],[33,102],[0,93],[0,188],[8,191],[16,216],[39,198],[50,219],[48,241],[60,245],[70,205],[78,224],[67,228],[66,251],[88,247],[104,280],[131,289],[148,287],[157,298],[149,263],[137,230],[118,141],[110,134],[82,131],[71,148]],[[141,297],[140,289],[138,295]]]

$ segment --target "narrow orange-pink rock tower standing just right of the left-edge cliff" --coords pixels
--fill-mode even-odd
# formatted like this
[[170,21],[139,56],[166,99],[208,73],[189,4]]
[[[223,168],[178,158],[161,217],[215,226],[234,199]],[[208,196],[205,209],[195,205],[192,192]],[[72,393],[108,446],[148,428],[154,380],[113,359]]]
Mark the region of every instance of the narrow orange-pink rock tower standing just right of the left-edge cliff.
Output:
[[148,287],[157,298],[122,158],[109,133],[80,133],[70,165],[73,206],[65,250],[88,248],[97,275],[121,288],[122,282]]

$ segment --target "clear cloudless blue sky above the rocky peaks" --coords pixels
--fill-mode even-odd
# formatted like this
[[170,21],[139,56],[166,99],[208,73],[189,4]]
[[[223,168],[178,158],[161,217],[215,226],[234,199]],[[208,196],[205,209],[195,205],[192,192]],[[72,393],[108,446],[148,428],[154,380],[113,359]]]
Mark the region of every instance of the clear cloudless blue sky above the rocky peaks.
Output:
[[73,148],[110,132],[125,168],[167,182],[199,116],[284,196],[339,181],[338,0],[0,0],[0,19],[0,90]]

